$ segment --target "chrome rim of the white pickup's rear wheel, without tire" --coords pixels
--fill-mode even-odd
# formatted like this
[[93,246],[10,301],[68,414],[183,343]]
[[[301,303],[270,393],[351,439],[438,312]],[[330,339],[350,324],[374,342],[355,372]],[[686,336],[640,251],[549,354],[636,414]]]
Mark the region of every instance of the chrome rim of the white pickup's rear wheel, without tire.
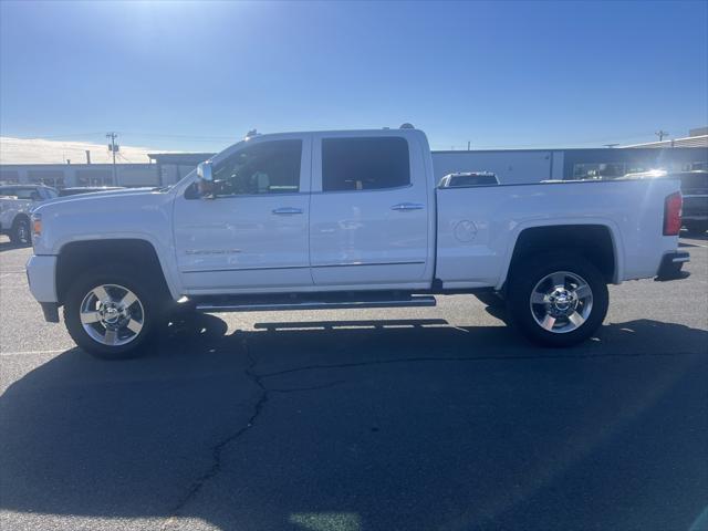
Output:
[[530,306],[539,326],[554,334],[563,334],[587,321],[593,309],[593,291],[582,277],[556,271],[535,284]]

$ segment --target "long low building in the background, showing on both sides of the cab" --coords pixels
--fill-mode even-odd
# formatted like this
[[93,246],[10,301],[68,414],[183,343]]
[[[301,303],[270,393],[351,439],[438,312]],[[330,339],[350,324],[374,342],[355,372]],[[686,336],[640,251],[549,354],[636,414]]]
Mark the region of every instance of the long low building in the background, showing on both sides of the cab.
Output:
[[[173,185],[211,153],[153,153],[150,164],[17,164],[0,166],[0,184],[70,186]],[[635,171],[708,169],[708,132],[616,148],[433,152],[436,180],[455,171],[493,171],[501,184],[548,179],[608,179]]]

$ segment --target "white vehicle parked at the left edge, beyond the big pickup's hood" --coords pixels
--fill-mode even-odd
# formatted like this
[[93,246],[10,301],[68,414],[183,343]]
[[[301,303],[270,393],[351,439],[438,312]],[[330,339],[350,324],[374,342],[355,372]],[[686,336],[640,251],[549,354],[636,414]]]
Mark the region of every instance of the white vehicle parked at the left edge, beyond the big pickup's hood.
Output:
[[56,196],[58,191],[49,186],[0,186],[0,233],[8,235],[12,243],[32,244],[31,210],[37,204]]

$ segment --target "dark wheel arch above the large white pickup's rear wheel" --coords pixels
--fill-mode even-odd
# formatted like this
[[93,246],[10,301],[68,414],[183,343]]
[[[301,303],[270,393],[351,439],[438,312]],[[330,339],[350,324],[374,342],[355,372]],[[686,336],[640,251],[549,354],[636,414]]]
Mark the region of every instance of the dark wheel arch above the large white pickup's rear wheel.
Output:
[[519,225],[506,252],[502,274],[496,285],[502,290],[513,268],[523,258],[540,252],[574,251],[593,262],[608,283],[623,278],[620,231],[608,220],[569,220]]

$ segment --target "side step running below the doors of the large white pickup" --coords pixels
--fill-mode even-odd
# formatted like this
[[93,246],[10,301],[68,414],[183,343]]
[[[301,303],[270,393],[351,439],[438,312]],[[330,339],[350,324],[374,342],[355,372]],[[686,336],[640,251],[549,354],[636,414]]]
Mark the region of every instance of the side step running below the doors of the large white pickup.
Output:
[[296,295],[232,295],[192,299],[199,312],[275,312],[285,310],[344,310],[364,308],[435,306],[433,295],[391,292],[300,293]]

